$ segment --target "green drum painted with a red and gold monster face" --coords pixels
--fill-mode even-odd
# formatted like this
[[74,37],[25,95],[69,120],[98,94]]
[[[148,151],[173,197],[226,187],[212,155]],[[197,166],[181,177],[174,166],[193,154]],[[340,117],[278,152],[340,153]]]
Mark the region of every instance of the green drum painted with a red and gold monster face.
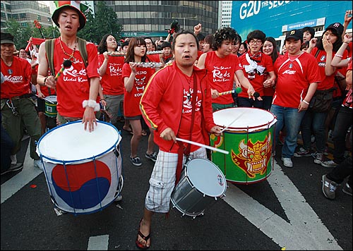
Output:
[[[238,119],[234,121],[235,118]],[[220,137],[210,137],[213,147],[229,151],[229,154],[212,153],[213,163],[227,180],[241,184],[256,183],[270,176],[273,169],[273,133],[277,122],[270,111],[229,108],[215,111],[213,120],[220,127],[227,127]]]

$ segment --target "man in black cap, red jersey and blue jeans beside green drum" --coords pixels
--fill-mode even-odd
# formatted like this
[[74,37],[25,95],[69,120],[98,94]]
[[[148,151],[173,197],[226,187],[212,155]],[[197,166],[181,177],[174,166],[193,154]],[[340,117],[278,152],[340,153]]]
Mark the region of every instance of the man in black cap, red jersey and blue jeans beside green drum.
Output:
[[[304,117],[309,108],[311,97],[321,81],[318,63],[313,55],[301,51],[303,32],[291,30],[287,32],[285,47],[287,54],[275,61],[277,85],[270,111],[277,117],[275,136],[280,135],[285,125],[287,135],[282,147],[284,166],[293,167],[292,157],[297,147],[297,137]],[[275,149],[276,140],[273,140]]]

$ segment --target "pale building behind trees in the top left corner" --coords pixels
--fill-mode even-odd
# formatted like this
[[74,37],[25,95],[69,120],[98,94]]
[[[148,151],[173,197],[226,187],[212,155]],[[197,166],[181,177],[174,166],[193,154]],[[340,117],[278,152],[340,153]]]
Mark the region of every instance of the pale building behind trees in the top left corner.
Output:
[[38,1],[1,1],[1,31],[6,29],[6,21],[13,18],[22,27],[35,25],[38,20],[42,27],[52,26],[49,6]]

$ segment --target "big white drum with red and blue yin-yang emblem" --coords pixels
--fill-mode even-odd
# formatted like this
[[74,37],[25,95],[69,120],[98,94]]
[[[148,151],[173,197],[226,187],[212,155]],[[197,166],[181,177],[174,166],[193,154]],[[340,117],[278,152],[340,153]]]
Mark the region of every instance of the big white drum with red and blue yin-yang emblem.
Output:
[[118,130],[102,121],[91,133],[83,127],[82,121],[60,125],[37,144],[54,205],[73,214],[102,210],[123,185]]

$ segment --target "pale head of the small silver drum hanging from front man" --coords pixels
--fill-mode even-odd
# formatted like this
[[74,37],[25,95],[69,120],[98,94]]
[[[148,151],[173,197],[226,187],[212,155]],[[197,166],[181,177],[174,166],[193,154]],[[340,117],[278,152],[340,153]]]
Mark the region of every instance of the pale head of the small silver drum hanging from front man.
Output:
[[220,197],[225,192],[225,176],[211,161],[191,159],[186,168],[191,183],[200,192],[211,197]]

